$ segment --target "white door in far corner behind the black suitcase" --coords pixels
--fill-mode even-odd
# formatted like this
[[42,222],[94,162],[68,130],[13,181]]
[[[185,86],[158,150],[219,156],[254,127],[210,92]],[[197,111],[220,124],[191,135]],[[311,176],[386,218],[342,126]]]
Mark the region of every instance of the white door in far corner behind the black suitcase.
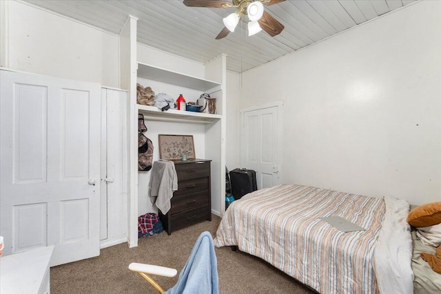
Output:
[[254,169],[258,189],[280,184],[278,106],[244,110],[240,167]]

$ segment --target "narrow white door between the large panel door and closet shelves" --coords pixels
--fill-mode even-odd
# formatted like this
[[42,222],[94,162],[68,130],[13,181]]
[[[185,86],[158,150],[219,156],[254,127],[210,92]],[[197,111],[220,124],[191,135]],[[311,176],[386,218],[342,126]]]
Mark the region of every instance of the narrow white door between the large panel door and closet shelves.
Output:
[[127,93],[101,90],[101,248],[127,242]]

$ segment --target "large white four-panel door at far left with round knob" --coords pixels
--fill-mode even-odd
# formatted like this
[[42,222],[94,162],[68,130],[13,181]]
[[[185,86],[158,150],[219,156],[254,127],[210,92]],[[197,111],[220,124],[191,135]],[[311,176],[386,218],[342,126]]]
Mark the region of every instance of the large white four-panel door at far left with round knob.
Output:
[[51,266],[99,255],[101,86],[6,70],[0,80],[4,253],[55,245]]

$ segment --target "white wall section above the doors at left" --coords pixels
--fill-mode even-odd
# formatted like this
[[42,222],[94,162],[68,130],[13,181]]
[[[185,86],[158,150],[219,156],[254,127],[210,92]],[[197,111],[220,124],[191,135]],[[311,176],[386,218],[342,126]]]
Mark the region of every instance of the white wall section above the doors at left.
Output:
[[2,66],[119,87],[117,35],[17,1],[2,8]]

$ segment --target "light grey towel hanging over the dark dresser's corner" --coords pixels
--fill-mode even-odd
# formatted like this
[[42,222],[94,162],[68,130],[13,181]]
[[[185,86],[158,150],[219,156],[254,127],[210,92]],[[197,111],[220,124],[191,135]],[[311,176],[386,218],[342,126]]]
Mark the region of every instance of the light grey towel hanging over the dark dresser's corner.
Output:
[[174,169],[174,162],[158,160],[153,162],[152,174],[150,174],[149,196],[150,201],[167,213],[170,210],[170,199],[173,192],[178,189],[178,175]]

